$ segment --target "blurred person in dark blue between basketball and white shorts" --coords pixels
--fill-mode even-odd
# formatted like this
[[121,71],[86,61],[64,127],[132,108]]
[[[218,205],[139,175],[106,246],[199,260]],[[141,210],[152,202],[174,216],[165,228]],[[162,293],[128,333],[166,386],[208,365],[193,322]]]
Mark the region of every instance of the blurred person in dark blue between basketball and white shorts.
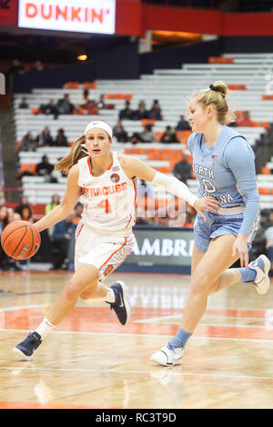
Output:
[[[73,233],[76,230],[76,224],[73,223],[74,214],[70,214],[65,220],[56,223],[52,234],[52,245],[56,250],[53,266],[50,270],[59,270],[67,258],[67,248]],[[66,268],[66,267],[64,267]]]

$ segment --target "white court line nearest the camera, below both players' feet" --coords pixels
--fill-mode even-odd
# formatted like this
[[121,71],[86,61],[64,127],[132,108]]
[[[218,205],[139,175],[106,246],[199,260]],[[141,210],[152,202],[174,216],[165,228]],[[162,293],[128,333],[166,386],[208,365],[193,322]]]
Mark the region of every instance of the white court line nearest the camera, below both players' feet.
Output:
[[[10,370],[18,370],[20,369],[18,366],[1,366],[1,370],[10,371]],[[141,373],[141,374],[153,374],[158,371],[126,371],[126,370],[112,370],[112,369],[83,369],[83,368],[40,368],[36,366],[26,366],[25,368],[22,368],[22,372],[25,370],[30,371],[69,371],[69,372],[100,372],[100,373]],[[217,377],[217,378],[230,378],[230,379],[251,379],[251,380],[269,380],[273,381],[273,377],[267,377],[267,376],[252,376],[252,375],[231,375],[231,374],[225,374],[225,373],[195,373],[195,372],[176,372],[173,371],[170,368],[165,368],[160,372],[172,372],[176,374],[177,376],[197,376],[197,377]],[[160,378],[155,378],[151,375],[151,378],[154,378],[156,380],[160,380]]]

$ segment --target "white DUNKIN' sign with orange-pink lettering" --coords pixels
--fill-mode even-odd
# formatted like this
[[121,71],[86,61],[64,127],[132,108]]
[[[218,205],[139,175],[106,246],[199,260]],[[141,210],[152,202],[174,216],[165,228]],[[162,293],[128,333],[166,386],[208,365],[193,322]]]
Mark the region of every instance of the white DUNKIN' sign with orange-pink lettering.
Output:
[[112,35],[116,0],[19,0],[18,26]]

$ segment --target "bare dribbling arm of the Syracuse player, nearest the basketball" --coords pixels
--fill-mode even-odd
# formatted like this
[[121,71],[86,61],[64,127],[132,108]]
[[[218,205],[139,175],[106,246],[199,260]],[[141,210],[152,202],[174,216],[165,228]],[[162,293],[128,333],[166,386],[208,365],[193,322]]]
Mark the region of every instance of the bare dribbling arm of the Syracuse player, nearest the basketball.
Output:
[[74,209],[80,195],[80,187],[77,184],[78,180],[78,164],[75,164],[70,169],[67,175],[66,193],[62,203],[58,204],[49,214],[46,214],[42,219],[35,223],[35,227],[39,232],[46,228],[64,220]]

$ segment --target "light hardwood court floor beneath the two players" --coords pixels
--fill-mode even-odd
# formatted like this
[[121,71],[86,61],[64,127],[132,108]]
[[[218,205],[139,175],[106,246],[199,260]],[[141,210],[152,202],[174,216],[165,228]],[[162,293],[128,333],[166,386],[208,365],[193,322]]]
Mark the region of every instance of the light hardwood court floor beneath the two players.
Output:
[[77,304],[32,362],[11,350],[43,319],[71,273],[1,273],[0,408],[273,408],[273,286],[211,295],[182,365],[152,353],[177,333],[189,277],[114,273],[128,285],[126,327],[102,300]]

